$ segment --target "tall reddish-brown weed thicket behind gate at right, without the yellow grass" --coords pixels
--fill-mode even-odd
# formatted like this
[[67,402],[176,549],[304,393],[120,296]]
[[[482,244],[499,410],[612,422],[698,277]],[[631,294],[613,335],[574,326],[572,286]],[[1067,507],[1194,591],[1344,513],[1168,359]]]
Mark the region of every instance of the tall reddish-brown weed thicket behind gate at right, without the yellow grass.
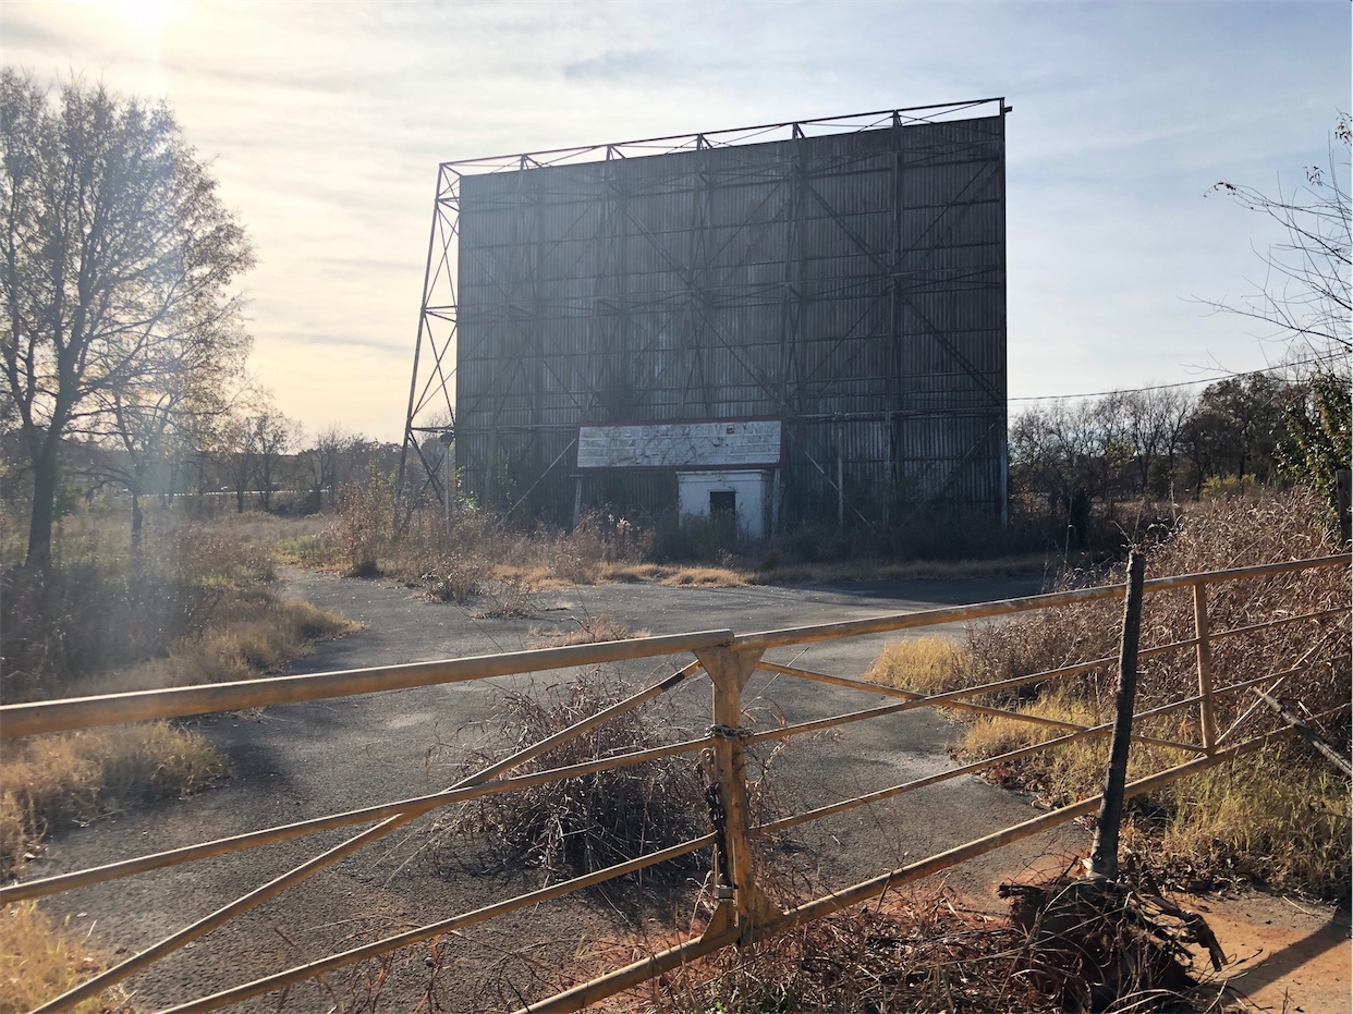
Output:
[[[1304,491],[1270,493],[1245,500],[1201,503],[1189,508],[1174,534],[1146,546],[1146,576],[1197,573],[1257,564],[1302,560],[1337,553],[1321,507]],[[1123,568],[1101,573],[1073,573],[1063,587],[1123,580]],[[1235,630],[1265,621],[1334,610],[1334,615],[1219,638],[1212,645],[1214,685],[1218,688],[1287,669],[1306,658],[1307,669],[1289,679],[1284,695],[1319,714],[1346,706],[1350,696],[1349,572],[1327,566],[1268,577],[1212,584],[1207,589],[1210,629]],[[1054,669],[1093,658],[1116,658],[1122,603],[1088,602],[1057,610],[1023,614],[978,627],[969,638],[976,681],[988,683]],[[1188,588],[1146,596],[1142,611],[1142,648],[1188,642],[1193,638],[1193,599]],[[1068,690],[1089,700],[1114,692],[1114,665],[1068,683]],[[1024,696],[1034,691],[1026,690]],[[1193,646],[1142,660],[1138,710],[1151,708],[1197,692]],[[1215,702],[1216,723],[1226,730],[1250,704],[1253,694],[1222,694]],[[1262,714],[1261,714],[1262,713]],[[1256,734],[1280,726],[1262,708],[1250,714],[1243,731]],[[1346,742],[1349,715],[1331,717],[1327,731]],[[1195,734],[1196,729],[1192,730]]]

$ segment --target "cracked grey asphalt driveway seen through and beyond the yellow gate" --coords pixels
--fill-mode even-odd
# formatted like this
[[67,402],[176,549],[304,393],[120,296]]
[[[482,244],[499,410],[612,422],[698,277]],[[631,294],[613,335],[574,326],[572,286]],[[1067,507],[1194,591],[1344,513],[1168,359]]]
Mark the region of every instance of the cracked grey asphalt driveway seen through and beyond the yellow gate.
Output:
[[[363,668],[533,646],[532,631],[574,626],[574,618],[610,614],[652,634],[731,627],[751,633],[782,626],[913,611],[934,606],[982,602],[1035,594],[1038,579],[917,580],[798,588],[667,588],[598,585],[536,596],[529,619],[480,619],[467,610],[438,604],[387,583],[344,580],[294,571],[285,594],[357,619],[360,633],[322,644],[294,667],[296,672]],[[775,661],[823,672],[859,676],[886,637],[824,642],[769,653]],[[636,662],[625,672],[633,683],[670,673],[687,658]],[[541,673],[557,683],[568,673]],[[529,683],[502,677],[490,684]],[[679,721],[674,738],[700,734],[709,723],[709,690],[704,679],[675,694]],[[748,711],[762,725],[825,717],[879,703],[877,695],[758,673],[748,687]],[[229,753],[235,777],[192,799],[114,815],[53,840],[32,876],[107,863],[145,852],[275,823],[350,810],[442,788],[472,746],[491,734],[495,690],[486,684],[452,684],[384,695],[269,708],[260,714],[216,715],[199,726]],[[782,799],[793,810],[821,804],[942,771],[951,765],[946,746],[954,727],[927,711],[908,711],[861,722],[836,733],[796,742],[773,768]],[[829,886],[846,886],[886,868],[921,859],[997,827],[1027,819],[1032,810],[1019,796],[973,777],[908,794],[900,800],[855,810],[804,829],[801,861]],[[422,825],[377,842],[288,890],[241,919],[216,930],[131,980],[139,1002],[157,1009],[222,988],[330,949],[353,946],[377,936],[445,918],[515,894],[529,884],[467,871],[434,869],[419,852]],[[203,863],[158,871],[107,886],[81,888],[53,899],[78,930],[123,955],[212,911],[238,895],[317,854],[348,831],[253,849]],[[1074,830],[1068,834],[1076,834]],[[1049,837],[993,853],[957,868],[948,882],[974,900],[990,898],[994,882],[1020,872],[1026,857],[1054,848]],[[651,917],[652,913],[645,913]],[[467,932],[459,942],[463,961],[484,965],[530,946],[501,965],[494,987],[463,996],[467,1007],[515,1006],[557,972],[580,942],[617,933],[633,913],[621,915],[586,899],[566,899],[520,913],[515,918]],[[675,913],[678,921],[689,913]],[[683,925],[683,923],[682,923]],[[418,955],[400,957],[380,980],[391,998],[417,995],[426,977]],[[337,998],[371,990],[371,977],[330,976],[327,986],[296,987],[288,1010],[323,1010]],[[494,988],[497,994],[494,994]],[[330,992],[331,990],[331,992]],[[484,991],[487,990],[487,992]],[[468,999],[467,999],[468,998]],[[390,1009],[409,1006],[403,999]],[[258,1010],[276,1007],[272,1002]]]

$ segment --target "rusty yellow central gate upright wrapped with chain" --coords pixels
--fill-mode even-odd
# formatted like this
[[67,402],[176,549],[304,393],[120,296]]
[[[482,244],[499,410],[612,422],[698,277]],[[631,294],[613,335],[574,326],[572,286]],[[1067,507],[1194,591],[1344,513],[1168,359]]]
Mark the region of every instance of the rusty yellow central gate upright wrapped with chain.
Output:
[[[710,929],[733,921],[739,942],[751,942],[752,929],[771,922],[779,911],[756,886],[752,869],[751,815],[747,804],[747,754],[743,748],[743,688],[756,669],[762,652],[735,648],[702,648],[695,652],[714,685],[713,725],[714,775],[724,807],[724,841],[727,869],[732,880],[732,907],[721,900]],[[716,876],[718,868],[716,865]],[[706,930],[709,932],[709,930]]]

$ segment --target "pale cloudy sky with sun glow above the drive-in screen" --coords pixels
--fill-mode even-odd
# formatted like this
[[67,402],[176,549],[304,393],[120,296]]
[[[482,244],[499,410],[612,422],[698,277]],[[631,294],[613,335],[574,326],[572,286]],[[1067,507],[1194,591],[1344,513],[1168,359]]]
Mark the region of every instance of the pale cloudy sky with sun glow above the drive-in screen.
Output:
[[1013,107],[1011,399],[1269,365],[1261,324],[1199,300],[1253,291],[1280,237],[1210,188],[1330,164],[1350,11],[4,0],[0,61],[166,99],[256,247],[257,381],[308,434],[398,441],[438,162],[988,96]]

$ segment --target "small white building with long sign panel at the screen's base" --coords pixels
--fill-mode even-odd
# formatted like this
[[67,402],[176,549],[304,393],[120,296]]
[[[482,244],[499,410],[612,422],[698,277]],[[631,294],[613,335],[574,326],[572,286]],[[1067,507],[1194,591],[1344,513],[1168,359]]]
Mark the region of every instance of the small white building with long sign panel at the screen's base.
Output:
[[771,534],[781,460],[778,419],[625,423],[578,431],[579,473],[675,472],[674,506],[682,516],[729,512],[748,538]]

